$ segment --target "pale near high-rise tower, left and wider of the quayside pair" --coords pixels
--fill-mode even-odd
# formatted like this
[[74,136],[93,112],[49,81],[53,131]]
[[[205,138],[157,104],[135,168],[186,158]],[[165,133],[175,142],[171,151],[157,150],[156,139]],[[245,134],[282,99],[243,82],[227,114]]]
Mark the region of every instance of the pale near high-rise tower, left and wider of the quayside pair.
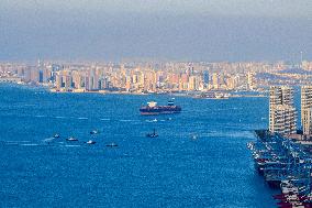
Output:
[[293,106],[293,89],[291,87],[270,87],[269,131],[280,134],[296,133],[297,111]]

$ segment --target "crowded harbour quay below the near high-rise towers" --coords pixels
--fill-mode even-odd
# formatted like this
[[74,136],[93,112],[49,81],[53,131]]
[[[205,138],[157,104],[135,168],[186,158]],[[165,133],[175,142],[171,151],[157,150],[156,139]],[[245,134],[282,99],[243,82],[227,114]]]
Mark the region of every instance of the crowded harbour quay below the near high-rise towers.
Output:
[[[268,130],[256,130],[249,142],[259,175],[280,194],[272,196],[280,208],[312,208],[312,154],[309,144]],[[307,146],[308,145],[308,146]]]

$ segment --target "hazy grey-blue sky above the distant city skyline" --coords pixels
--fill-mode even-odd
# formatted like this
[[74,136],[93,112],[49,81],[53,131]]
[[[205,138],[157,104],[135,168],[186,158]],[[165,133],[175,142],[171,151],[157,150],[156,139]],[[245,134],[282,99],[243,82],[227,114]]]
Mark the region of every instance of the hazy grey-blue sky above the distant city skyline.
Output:
[[0,0],[0,61],[312,59],[311,0]]

